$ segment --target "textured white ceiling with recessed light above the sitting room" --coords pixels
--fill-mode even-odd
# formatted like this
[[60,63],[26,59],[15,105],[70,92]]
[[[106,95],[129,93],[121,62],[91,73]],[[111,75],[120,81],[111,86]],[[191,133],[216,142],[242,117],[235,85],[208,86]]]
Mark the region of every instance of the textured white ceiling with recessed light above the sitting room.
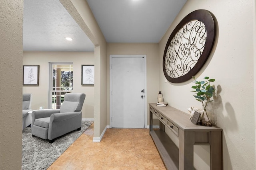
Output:
[[94,45],[58,0],[24,0],[23,50],[94,51]]

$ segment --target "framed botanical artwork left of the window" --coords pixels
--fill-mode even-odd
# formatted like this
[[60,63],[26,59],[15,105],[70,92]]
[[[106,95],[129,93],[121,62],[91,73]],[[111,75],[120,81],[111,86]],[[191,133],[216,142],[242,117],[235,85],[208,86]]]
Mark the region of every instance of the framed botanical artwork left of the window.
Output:
[[23,85],[39,86],[39,65],[23,65]]

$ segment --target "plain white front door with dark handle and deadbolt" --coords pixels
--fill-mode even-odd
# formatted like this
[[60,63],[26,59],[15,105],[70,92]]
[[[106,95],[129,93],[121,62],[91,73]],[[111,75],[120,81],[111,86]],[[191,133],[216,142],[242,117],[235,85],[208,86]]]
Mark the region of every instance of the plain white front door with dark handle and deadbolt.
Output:
[[144,57],[112,57],[112,127],[144,128]]

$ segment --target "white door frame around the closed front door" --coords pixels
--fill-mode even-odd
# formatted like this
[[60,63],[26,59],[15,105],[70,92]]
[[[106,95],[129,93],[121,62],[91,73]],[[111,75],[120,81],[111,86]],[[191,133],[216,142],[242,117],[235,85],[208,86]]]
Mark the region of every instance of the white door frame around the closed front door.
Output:
[[112,128],[112,58],[144,57],[144,128],[147,128],[147,55],[109,55],[109,127]]

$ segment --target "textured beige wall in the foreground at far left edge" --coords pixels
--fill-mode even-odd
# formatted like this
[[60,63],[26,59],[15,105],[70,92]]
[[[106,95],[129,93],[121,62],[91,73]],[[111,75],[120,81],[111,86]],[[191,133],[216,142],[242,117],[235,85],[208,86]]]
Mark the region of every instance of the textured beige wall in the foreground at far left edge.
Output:
[[0,169],[21,169],[23,0],[0,0]]

